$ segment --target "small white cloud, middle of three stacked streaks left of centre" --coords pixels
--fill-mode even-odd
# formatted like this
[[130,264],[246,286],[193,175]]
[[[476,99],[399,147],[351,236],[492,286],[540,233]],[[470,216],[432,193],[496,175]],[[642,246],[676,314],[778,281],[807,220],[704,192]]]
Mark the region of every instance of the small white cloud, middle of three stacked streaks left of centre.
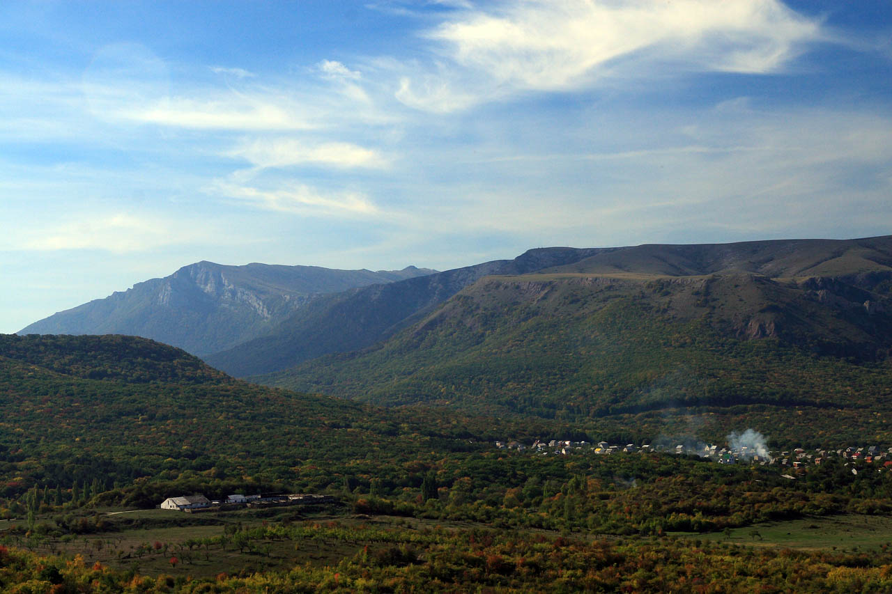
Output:
[[293,138],[258,139],[224,154],[249,161],[257,168],[314,164],[345,169],[382,169],[388,165],[380,153],[359,144],[306,144]]

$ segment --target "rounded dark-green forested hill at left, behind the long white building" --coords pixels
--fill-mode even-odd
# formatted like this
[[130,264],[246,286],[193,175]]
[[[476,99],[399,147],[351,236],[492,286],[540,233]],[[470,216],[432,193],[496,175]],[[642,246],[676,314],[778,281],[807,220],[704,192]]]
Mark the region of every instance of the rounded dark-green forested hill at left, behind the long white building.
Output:
[[0,334],[0,507],[35,484],[94,480],[147,507],[211,483],[339,488],[474,450],[492,426],[247,384],[144,338]]

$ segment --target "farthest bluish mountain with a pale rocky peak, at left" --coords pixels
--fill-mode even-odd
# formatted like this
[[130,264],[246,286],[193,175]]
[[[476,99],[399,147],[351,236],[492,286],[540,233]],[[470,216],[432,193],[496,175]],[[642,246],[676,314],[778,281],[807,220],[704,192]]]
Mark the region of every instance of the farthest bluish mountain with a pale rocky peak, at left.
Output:
[[61,311],[18,334],[131,334],[201,355],[265,333],[320,294],[432,272],[411,266],[372,272],[202,261]]

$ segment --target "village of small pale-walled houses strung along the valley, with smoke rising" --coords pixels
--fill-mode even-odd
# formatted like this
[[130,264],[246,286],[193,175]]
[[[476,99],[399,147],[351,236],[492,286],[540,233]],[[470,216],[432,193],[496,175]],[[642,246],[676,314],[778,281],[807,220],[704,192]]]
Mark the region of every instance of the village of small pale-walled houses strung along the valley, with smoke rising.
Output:
[[[495,447],[499,450],[523,451],[541,456],[570,456],[594,454],[608,456],[616,453],[648,453],[662,452],[679,456],[698,456],[709,458],[718,464],[759,464],[762,466],[777,466],[783,476],[795,479],[793,474],[805,472],[807,466],[820,466],[829,458],[841,458],[847,462],[862,462],[863,464],[877,465],[878,469],[892,470],[892,448],[882,450],[879,446],[848,447],[839,450],[805,450],[795,448],[789,451],[768,451],[761,443],[751,445],[739,445],[737,447],[719,448],[713,444],[698,443],[697,445],[678,444],[675,446],[665,443],[636,446],[633,443],[626,445],[610,444],[607,441],[590,443],[588,441],[550,440],[533,441],[526,445],[520,441],[496,441]],[[852,472],[857,474],[853,466]]]

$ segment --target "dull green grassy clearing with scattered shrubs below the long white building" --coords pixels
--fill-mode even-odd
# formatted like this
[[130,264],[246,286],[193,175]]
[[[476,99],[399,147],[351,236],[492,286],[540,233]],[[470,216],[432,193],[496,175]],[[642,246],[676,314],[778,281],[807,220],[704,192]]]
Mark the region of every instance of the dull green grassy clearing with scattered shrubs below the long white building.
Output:
[[[270,511],[273,510],[189,515],[166,509],[121,511],[107,508],[97,512],[109,522],[107,530],[103,532],[37,539],[4,535],[4,531],[12,526],[24,526],[25,521],[20,519],[0,524],[0,542],[40,554],[62,554],[69,558],[79,556],[87,565],[99,563],[112,569],[134,570],[141,575],[213,577],[219,573],[247,575],[286,570],[296,565],[333,567],[345,558],[356,556],[364,548],[374,554],[386,546],[376,540],[312,537],[297,541],[253,540],[244,549],[239,549],[235,542],[224,546],[212,543],[209,546],[194,544],[189,547],[190,541],[218,538],[226,532],[227,526],[237,526],[247,531],[282,522],[323,527],[330,527],[336,522],[344,527],[399,527],[409,533],[431,530],[434,526],[453,529],[482,527],[482,524],[469,522],[437,522],[394,516],[332,516],[323,511],[298,513],[294,508],[279,508],[273,514]],[[37,523],[42,522],[52,524],[52,519],[38,516]],[[171,564],[171,558],[177,559],[175,565]]]

